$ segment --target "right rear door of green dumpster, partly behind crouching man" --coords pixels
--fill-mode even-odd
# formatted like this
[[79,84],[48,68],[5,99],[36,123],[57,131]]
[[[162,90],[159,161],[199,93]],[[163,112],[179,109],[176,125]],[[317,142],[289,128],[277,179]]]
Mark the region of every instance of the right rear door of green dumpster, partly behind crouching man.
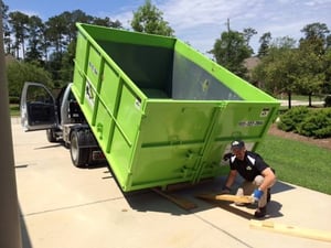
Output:
[[229,143],[234,139],[245,140],[248,150],[255,150],[263,141],[273,123],[278,104],[227,101],[215,120],[211,139],[207,141],[200,171],[194,181],[224,174],[227,163],[223,154],[231,152]]

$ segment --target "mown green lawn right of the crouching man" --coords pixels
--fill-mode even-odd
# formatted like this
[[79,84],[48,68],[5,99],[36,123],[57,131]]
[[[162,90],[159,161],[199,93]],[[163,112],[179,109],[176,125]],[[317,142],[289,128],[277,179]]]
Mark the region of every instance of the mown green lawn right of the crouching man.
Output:
[[331,195],[330,150],[267,136],[257,149],[278,180]]

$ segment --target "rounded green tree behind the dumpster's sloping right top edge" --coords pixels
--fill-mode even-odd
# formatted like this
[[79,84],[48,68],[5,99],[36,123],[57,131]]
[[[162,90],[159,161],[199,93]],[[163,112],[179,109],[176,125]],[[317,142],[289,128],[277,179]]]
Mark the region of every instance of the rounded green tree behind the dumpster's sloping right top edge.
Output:
[[244,60],[253,54],[247,40],[249,41],[244,33],[228,30],[221,34],[221,39],[215,41],[214,48],[209,53],[214,55],[220,65],[245,78],[247,68],[244,66]]

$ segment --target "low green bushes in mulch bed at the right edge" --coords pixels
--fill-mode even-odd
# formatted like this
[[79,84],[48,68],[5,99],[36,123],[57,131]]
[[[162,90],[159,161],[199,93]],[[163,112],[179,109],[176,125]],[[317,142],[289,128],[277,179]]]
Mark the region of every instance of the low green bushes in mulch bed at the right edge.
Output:
[[331,137],[331,109],[296,107],[279,117],[277,127],[306,137],[328,138]]

